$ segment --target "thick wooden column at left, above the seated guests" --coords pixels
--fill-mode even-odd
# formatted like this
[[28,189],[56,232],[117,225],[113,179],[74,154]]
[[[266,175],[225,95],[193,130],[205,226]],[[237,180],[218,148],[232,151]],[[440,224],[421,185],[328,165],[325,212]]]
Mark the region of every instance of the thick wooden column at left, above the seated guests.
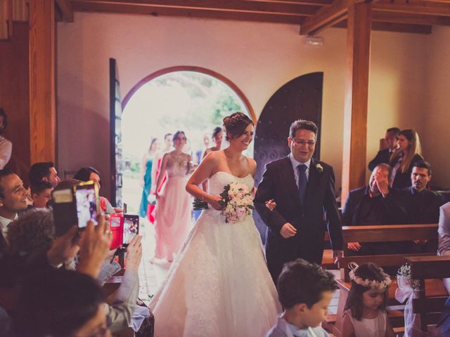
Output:
[[55,8],[30,0],[30,159],[55,161]]

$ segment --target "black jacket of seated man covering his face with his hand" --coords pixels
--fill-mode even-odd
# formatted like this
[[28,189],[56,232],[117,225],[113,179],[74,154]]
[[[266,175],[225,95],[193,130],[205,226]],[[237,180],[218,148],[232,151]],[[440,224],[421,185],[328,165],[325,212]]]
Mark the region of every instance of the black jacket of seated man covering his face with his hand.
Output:
[[[358,226],[360,223],[361,201],[368,195],[368,186],[359,187],[349,192],[342,209],[342,225]],[[376,225],[399,225],[409,220],[406,207],[407,192],[390,189],[390,193],[382,198],[383,220]],[[375,225],[375,224],[374,224]]]

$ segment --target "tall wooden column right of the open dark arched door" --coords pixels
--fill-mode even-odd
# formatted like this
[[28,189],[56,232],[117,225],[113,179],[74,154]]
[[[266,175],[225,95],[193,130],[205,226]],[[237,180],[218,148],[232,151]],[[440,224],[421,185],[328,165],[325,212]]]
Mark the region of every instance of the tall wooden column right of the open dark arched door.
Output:
[[349,6],[345,88],[342,203],[349,190],[366,185],[368,74],[372,4]]

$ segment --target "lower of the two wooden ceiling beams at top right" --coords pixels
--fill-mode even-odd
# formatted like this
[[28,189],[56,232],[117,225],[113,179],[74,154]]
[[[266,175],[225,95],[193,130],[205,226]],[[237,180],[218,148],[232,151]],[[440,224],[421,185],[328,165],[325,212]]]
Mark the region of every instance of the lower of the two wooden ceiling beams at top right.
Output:
[[372,20],[375,22],[406,23],[409,25],[450,26],[450,17],[435,15],[418,15],[373,11]]

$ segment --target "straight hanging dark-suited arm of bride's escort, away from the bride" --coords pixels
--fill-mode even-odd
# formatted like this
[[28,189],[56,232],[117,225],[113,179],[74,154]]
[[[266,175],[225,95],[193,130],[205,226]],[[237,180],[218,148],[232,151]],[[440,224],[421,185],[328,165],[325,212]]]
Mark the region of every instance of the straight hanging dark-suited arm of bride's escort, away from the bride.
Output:
[[323,201],[323,207],[326,212],[326,222],[328,227],[328,233],[330,233],[331,248],[333,251],[342,250],[342,224],[340,222],[340,216],[338,211],[338,205],[335,199],[335,173],[330,166],[329,183]]

